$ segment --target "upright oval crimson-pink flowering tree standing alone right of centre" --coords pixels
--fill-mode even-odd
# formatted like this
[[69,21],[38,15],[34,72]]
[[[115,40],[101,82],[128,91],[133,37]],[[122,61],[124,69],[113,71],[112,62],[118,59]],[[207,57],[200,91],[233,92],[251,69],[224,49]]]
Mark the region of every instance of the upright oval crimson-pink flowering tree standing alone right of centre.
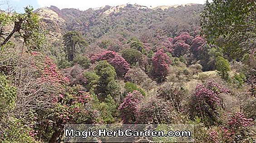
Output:
[[152,57],[153,61],[153,77],[157,79],[158,83],[165,80],[171,60],[169,56],[164,53],[162,49],[159,49]]

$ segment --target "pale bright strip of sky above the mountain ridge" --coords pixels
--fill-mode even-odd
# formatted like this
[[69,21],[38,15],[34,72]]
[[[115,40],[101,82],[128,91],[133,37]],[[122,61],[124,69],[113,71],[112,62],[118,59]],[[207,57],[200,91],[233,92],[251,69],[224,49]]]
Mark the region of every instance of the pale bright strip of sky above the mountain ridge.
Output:
[[205,1],[206,0],[0,0],[0,10],[6,10],[8,5],[16,12],[20,13],[23,12],[23,7],[27,5],[33,6],[34,9],[54,5],[59,9],[74,8],[86,10],[105,5],[117,6],[124,4],[138,4],[155,7],[160,5],[181,5],[188,3],[204,4]]

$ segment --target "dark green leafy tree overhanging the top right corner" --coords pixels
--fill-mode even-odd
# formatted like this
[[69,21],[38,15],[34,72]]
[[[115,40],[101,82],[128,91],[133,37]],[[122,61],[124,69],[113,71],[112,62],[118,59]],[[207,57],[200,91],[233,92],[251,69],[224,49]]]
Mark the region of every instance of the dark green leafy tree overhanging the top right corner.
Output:
[[[207,0],[202,28],[209,42],[224,48],[225,54],[241,59],[255,54],[256,3],[254,0]],[[221,37],[221,40],[218,40]]]

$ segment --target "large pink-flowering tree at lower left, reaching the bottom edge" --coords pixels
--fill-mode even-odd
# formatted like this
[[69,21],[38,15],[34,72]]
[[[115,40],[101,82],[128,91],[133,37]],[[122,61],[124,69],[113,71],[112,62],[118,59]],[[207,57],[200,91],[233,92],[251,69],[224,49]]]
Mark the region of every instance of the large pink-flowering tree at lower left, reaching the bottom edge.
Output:
[[[61,137],[64,124],[88,123],[91,124],[92,111],[87,102],[91,99],[82,86],[69,86],[66,78],[57,68],[56,64],[48,57],[33,52],[34,63],[32,67],[37,69],[36,79],[39,83],[51,85],[52,91],[45,91],[41,96],[48,97],[49,108],[39,108],[34,111],[34,122],[31,126],[30,136],[44,138],[49,143],[55,143]],[[39,137],[40,136],[40,137]]]

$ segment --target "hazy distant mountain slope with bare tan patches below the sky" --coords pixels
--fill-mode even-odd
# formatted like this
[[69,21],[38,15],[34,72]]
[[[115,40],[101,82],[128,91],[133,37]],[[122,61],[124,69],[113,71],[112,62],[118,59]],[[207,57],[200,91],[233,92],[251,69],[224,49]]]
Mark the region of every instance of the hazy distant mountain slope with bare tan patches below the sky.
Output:
[[[110,33],[121,37],[158,29],[168,36],[176,36],[180,31],[190,32],[200,26],[200,12],[203,5],[187,4],[146,7],[141,5],[104,6],[98,9],[58,9],[55,6],[37,9],[41,21],[50,34],[78,30],[90,41]],[[55,34],[55,35],[54,35]]]

